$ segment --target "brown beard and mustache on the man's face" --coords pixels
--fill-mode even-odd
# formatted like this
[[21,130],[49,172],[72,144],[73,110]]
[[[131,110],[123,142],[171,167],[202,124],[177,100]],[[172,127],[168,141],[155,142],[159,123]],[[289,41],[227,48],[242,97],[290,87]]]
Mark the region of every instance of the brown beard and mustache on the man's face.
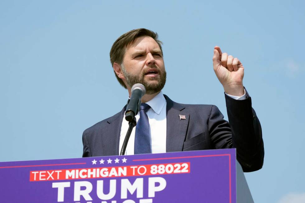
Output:
[[[160,68],[153,66],[149,68],[156,68],[158,70],[159,77],[148,77],[148,79],[145,80],[145,71],[142,71],[139,75],[132,75],[128,73],[124,67],[124,65],[121,65],[122,72],[125,76],[127,85],[131,88],[134,84],[140,83],[144,85],[146,89],[146,94],[152,95],[154,93],[157,93],[161,91],[165,85],[166,82],[166,71],[162,71]],[[157,81],[157,82],[155,82]]]

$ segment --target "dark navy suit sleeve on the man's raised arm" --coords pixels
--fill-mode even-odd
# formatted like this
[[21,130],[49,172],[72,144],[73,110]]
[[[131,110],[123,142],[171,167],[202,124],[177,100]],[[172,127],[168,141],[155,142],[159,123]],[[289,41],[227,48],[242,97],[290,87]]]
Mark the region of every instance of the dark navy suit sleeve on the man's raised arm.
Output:
[[260,122],[251,107],[251,97],[236,100],[225,95],[229,123],[216,106],[209,116],[209,133],[216,149],[236,148],[244,172],[262,168],[264,144]]

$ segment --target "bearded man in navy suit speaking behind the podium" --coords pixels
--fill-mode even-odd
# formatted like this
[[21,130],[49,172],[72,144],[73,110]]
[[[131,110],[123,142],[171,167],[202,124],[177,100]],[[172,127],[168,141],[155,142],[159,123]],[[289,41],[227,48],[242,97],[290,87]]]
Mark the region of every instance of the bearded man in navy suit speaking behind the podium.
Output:
[[[136,83],[146,88],[126,155],[234,147],[245,172],[262,167],[260,122],[243,87],[244,67],[237,58],[214,47],[213,67],[225,91],[230,124],[214,105],[178,104],[162,94],[166,71],[157,33],[147,29],[125,33],[113,44],[110,61],[129,96]],[[83,157],[119,155],[129,126],[125,108],[84,131]]]

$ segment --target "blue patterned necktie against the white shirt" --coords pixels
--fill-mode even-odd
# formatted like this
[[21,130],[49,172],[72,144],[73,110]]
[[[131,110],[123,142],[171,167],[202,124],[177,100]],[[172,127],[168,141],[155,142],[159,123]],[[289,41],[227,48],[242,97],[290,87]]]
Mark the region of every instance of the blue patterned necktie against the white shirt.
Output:
[[149,121],[146,111],[150,106],[142,103],[140,107],[140,118],[136,125],[134,137],[134,154],[151,154],[152,148],[150,144]]

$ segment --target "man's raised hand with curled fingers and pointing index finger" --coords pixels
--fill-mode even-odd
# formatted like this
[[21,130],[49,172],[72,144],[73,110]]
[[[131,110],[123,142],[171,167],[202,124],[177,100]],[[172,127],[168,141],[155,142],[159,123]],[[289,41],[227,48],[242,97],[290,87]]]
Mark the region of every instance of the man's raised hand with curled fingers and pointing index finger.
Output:
[[215,46],[213,68],[227,94],[234,96],[242,96],[244,94],[242,84],[244,67],[238,58],[222,53],[220,47]]

